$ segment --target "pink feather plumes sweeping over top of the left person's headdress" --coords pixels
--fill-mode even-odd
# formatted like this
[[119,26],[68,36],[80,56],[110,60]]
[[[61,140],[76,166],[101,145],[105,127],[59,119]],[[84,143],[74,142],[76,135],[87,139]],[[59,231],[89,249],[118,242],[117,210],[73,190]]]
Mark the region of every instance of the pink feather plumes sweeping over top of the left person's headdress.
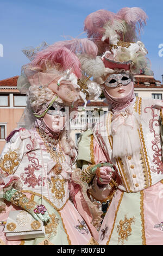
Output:
[[45,50],[36,54],[32,64],[39,65],[41,68],[47,63],[59,63],[62,70],[71,69],[77,77],[82,75],[80,70],[80,61],[76,54],[90,54],[97,56],[98,48],[90,39],[72,39],[67,41],[55,42]]

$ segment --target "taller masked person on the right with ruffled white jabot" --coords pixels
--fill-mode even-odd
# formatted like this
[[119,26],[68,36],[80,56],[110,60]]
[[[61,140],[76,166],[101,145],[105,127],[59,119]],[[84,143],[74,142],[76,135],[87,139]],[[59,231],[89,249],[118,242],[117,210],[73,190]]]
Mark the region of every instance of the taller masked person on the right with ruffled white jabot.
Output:
[[[96,81],[110,110],[93,130],[83,132],[78,145],[83,168],[73,178],[90,209],[92,203],[109,202],[100,245],[162,245],[163,103],[134,95],[134,75],[152,75],[147,50],[136,41],[136,29],[146,18],[140,8],[123,8],[117,14],[98,10],[85,20],[85,31],[101,54],[95,66],[103,75]],[[92,66],[89,75],[93,72]],[[92,223],[97,214],[98,209],[92,212]]]

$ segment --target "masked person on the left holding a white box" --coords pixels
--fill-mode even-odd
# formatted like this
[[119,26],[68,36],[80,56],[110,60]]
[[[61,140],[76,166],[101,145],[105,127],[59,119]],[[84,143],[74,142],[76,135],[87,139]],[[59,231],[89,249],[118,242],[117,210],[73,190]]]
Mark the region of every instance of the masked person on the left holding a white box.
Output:
[[[79,86],[82,72],[76,48],[90,56],[97,54],[96,45],[87,39],[62,41],[51,46],[45,44],[41,51],[39,47],[24,50],[31,62],[22,67],[17,87],[28,96],[23,117],[26,128],[10,133],[0,160],[0,239],[3,244],[97,243],[69,200],[77,157],[68,130],[69,114],[76,111],[79,100],[84,100],[85,104],[86,97],[101,94],[96,83],[93,93]],[[93,84],[89,80],[87,83],[88,87]],[[19,214],[16,215],[17,210]],[[10,217],[16,217],[8,223],[11,211],[14,213]],[[34,220],[29,225],[32,217]],[[5,236],[6,232],[37,231],[40,221],[44,223],[45,237],[10,241]]]

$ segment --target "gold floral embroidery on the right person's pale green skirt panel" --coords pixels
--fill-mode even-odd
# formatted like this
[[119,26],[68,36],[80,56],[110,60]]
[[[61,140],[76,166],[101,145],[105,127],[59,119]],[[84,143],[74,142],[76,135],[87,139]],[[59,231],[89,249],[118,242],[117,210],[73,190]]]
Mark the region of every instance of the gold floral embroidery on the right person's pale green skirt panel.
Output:
[[122,245],[124,245],[124,240],[128,241],[128,236],[131,235],[131,224],[135,222],[135,218],[127,218],[127,216],[124,216],[124,221],[120,221],[119,225],[117,225],[118,228],[118,243],[121,242]]

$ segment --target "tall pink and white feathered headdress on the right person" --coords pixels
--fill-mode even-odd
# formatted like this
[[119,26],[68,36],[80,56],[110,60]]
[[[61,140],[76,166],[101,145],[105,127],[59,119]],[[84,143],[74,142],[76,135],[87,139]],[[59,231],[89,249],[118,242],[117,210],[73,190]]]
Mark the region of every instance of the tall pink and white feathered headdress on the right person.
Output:
[[84,31],[98,47],[105,66],[105,74],[124,69],[134,75],[153,75],[146,57],[147,50],[139,41],[146,21],[145,11],[137,7],[122,8],[117,14],[98,10],[86,17]]

